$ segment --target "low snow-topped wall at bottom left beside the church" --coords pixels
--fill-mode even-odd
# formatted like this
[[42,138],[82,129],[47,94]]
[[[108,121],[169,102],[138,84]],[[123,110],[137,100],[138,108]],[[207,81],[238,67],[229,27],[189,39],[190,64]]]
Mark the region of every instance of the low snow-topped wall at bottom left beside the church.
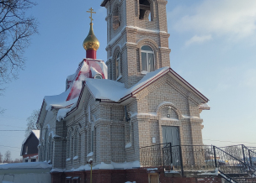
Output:
[[0,183],[51,183],[51,167],[44,162],[0,165]]

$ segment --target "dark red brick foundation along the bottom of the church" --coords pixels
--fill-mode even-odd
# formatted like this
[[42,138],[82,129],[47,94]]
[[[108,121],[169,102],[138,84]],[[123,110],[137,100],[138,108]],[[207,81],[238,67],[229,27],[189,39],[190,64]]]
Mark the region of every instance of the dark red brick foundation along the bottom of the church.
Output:
[[[157,175],[161,183],[221,183],[221,177],[216,175],[205,175],[200,177],[168,177],[164,175],[163,169],[154,172],[147,169],[131,170],[93,170],[93,183],[125,183],[136,181],[136,183],[148,183],[150,174]],[[90,170],[81,172],[51,173],[52,183],[64,183],[65,178],[80,177],[80,183],[89,183],[91,178]]]

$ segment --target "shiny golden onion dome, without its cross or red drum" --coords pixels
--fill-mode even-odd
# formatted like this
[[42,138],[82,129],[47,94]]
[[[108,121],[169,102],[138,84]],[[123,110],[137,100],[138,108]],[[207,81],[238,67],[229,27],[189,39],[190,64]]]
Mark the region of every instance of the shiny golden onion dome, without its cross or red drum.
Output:
[[93,33],[93,23],[90,23],[90,31],[86,39],[83,41],[84,50],[98,50],[99,49],[99,40]]

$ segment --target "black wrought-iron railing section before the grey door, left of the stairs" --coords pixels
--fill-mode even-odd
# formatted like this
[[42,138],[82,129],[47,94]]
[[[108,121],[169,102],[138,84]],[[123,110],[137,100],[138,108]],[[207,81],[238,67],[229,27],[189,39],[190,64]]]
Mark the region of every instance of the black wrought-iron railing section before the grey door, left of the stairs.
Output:
[[213,146],[157,144],[140,148],[143,167],[165,170],[215,170]]

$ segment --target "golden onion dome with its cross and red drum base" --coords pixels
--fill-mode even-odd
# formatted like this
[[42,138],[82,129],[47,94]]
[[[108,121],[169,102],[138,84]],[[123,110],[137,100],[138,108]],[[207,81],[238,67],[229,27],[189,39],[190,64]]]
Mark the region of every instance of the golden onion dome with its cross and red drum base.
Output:
[[86,50],[86,58],[96,59],[96,51],[99,49],[99,40],[93,33],[93,13],[96,12],[93,12],[93,8],[90,8],[89,10],[90,11],[87,11],[87,13],[91,13],[91,16],[89,17],[91,23],[88,36],[83,40],[83,48]]

